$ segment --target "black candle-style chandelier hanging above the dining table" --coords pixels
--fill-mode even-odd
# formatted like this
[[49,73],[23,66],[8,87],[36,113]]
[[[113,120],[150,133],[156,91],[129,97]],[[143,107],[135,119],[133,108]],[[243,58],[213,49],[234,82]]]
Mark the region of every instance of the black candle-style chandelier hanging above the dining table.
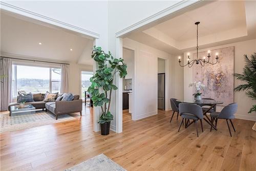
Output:
[[190,60],[189,53],[187,53],[187,64],[182,66],[181,65],[181,60],[180,60],[181,57],[179,56],[179,63],[180,63],[181,67],[188,66],[189,68],[191,68],[194,65],[195,62],[196,62],[196,64],[200,63],[200,65],[202,67],[204,67],[205,63],[209,63],[211,65],[215,65],[218,62],[218,59],[219,59],[218,53],[216,53],[216,62],[215,63],[210,62],[210,50],[208,50],[208,56],[207,56],[208,59],[206,59],[205,56],[203,57],[203,59],[199,59],[198,58],[198,48],[199,48],[198,47],[198,25],[199,25],[199,23],[200,22],[196,22],[195,23],[195,25],[197,25],[197,59]]

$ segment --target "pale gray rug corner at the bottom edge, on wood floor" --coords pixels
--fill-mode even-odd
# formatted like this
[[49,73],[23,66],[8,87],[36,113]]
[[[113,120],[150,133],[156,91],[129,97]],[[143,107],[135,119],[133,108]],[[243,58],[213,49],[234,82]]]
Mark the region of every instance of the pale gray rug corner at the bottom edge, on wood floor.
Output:
[[103,154],[77,164],[65,171],[126,171],[120,165]]

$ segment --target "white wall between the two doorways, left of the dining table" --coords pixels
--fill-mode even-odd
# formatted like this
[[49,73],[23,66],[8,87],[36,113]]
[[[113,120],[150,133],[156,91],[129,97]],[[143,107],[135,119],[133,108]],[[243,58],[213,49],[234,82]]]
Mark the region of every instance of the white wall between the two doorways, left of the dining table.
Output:
[[133,120],[155,115],[157,114],[157,61],[159,57],[169,59],[170,55],[129,38],[123,39],[123,46],[135,49]]

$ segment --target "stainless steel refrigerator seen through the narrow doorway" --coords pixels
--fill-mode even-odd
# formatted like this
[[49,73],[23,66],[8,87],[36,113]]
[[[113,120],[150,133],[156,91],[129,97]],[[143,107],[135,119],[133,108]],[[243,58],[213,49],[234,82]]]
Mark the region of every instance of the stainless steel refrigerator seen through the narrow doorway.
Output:
[[157,108],[165,110],[165,74],[158,74]]

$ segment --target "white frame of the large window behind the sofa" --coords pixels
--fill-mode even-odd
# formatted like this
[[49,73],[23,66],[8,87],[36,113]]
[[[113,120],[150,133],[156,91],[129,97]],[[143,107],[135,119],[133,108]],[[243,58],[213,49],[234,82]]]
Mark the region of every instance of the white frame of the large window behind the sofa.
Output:
[[[61,70],[61,67],[60,66],[57,66],[57,65],[53,65],[53,66],[49,66],[49,65],[44,65],[44,64],[35,64],[35,63],[23,63],[23,62],[12,62],[12,66],[13,67],[13,76],[14,76],[14,80],[13,83],[13,95],[12,95],[12,98],[15,99],[17,97],[17,94],[18,94],[18,91],[17,91],[17,66],[27,66],[27,67],[40,67],[40,68],[48,68],[49,69],[49,92],[51,93],[52,92],[52,82],[60,82],[61,84],[61,74],[60,74],[60,81],[56,81],[56,80],[52,80],[52,69],[60,69]],[[60,86],[61,87],[61,86]],[[60,90],[59,90],[60,91]]]

